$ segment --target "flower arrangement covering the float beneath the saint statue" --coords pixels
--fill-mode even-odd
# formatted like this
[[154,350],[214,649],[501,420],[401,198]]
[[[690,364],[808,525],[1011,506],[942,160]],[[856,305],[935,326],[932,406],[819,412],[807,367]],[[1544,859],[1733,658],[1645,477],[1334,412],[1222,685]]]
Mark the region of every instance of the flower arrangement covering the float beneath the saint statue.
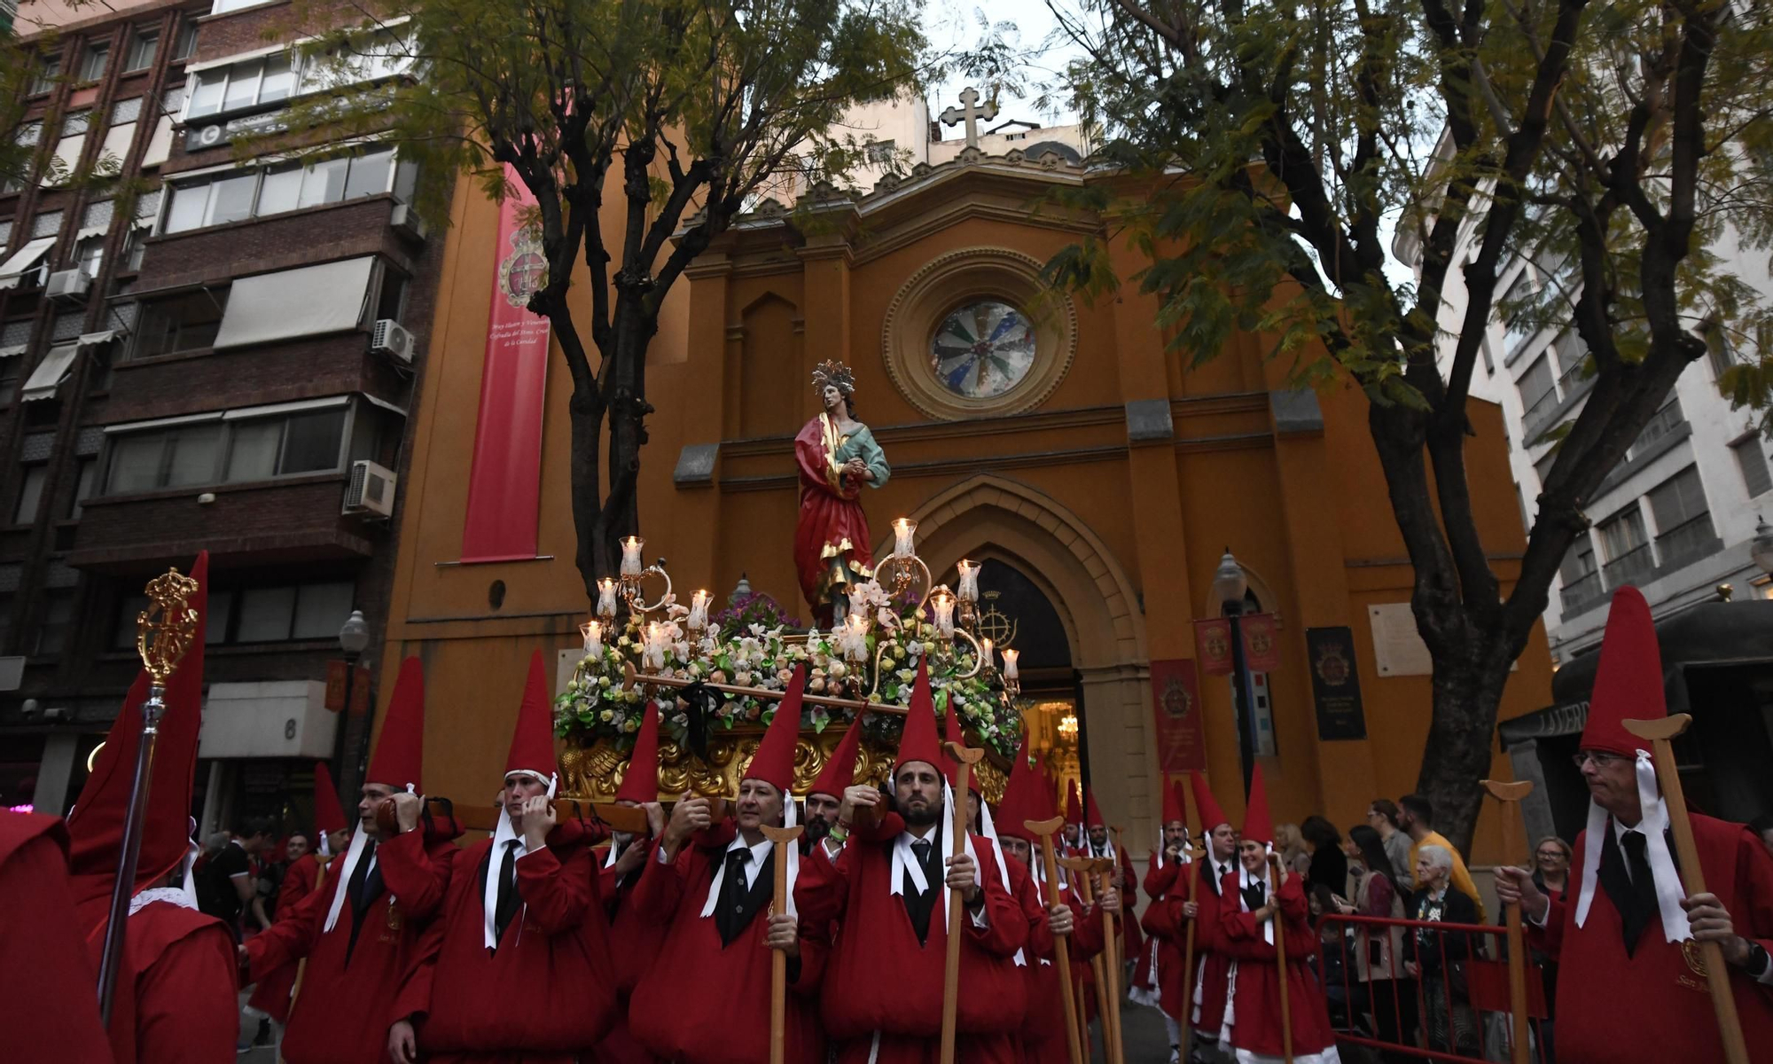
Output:
[[[555,699],[555,731],[583,745],[612,739],[621,750],[631,748],[652,695],[644,679],[631,690],[622,688],[629,665],[642,676],[780,692],[793,679],[794,667],[805,663],[807,693],[908,706],[918,658],[927,658],[936,715],[952,708],[977,741],[1005,757],[1016,754],[1021,715],[1005,695],[996,669],[977,667],[972,644],[956,638],[952,651],[943,649],[926,606],[913,598],[888,596],[872,580],[853,585],[849,603],[851,617],[833,631],[814,628],[798,633],[789,630],[775,599],[754,594],[713,617],[700,638],[691,638],[684,626],[688,610],[667,601],[663,619],[631,617],[626,630],[613,640],[601,640],[580,661]],[[661,734],[684,747],[693,731],[691,713],[704,711],[683,697],[683,688],[654,692]],[[777,699],[707,693],[715,697],[700,724],[709,734],[746,724],[768,725],[780,704]],[[851,716],[849,709],[808,704],[800,727],[823,732],[833,720],[847,724]],[[871,713],[863,718],[863,738],[894,745],[902,727],[899,713]]]

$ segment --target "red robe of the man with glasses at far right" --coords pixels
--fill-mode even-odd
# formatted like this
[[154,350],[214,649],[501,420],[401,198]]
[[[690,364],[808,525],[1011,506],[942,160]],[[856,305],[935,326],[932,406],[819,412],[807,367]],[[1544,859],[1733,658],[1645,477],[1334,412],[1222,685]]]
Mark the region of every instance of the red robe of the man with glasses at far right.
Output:
[[[1608,826],[1610,828],[1610,826]],[[1583,832],[1587,835],[1587,832]],[[1582,883],[1583,842],[1576,837],[1571,887]],[[1718,896],[1738,935],[1773,951],[1773,857],[1753,832],[1693,814],[1693,842],[1706,888]],[[1558,963],[1557,1059],[1560,1064],[1647,1064],[1651,1060],[1722,1060],[1723,1046],[1711,993],[1697,972],[1699,949],[1663,940],[1652,917],[1628,958],[1619,910],[1599,883],[1583,927],[1576,926],[1576,890],[1551,899],[1546,926],[1528,922],[1530,942]],[[1748,1055],[1773,1052],[1773,986],[1729,968],[1736,1014]]]

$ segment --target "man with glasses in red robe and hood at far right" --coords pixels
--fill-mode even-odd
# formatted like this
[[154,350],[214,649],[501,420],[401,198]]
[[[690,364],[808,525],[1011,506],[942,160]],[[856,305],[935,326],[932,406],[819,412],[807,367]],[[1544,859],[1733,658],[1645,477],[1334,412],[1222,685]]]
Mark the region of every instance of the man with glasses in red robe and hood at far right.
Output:
[[[1621,587],[1582,731],[1578,764],[1590,803],[1569,872],[1573,897],[1532,890],[1521,903],[1530,942],[1558,963],[1564,1064],[1723,1059],[1651,743],[1622,724],[1667,716],[1663,683],[1649,603],[1635,587]],[[1773,857],[1743,825],[1697,812],[1690,819],[1706,888],[1729,915],[1725,977],[1755,1055],[1773,1046]],[[1532,887],[1518,869],[1509,878]]]

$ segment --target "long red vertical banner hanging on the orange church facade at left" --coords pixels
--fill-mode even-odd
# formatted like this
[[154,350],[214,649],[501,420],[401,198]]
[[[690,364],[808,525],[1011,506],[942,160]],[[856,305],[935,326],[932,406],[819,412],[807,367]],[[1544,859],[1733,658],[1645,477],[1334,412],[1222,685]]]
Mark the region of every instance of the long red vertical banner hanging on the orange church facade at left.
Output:
[[525,307],[548,278],[541,234],[519,223],[535,200],[507,167],[511,195],[498,207],[498,266],[493,271],[480,371],[480,417],[468,466],[468,514],[461,560],[535,557],[543,486],[543,403],[548,385],[548,319]]

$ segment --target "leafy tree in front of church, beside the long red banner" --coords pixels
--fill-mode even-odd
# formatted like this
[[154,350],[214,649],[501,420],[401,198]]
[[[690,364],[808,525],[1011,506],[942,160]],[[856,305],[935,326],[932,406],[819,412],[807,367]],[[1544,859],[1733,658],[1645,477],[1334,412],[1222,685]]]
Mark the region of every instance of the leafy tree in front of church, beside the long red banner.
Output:
[[[335,21],[337,11],[303,18]],[[518,186],[534,197],[548,277],[528,307],[550,319],[573,376],[573,520],[589,596],[638,528],[645,353],[667,293],[759,199],[840,181],[855,165],[835,126],[920,74],[918,0],[394,0],[367,11],[309,48],[353,89],[307,103],[291,124],[399,144],[420,163],[431,218],[461,174],[496,199]],[[410,76],[365,89],[353,69],[390,55]],[[589,298],[569,298],[574,286]]]

